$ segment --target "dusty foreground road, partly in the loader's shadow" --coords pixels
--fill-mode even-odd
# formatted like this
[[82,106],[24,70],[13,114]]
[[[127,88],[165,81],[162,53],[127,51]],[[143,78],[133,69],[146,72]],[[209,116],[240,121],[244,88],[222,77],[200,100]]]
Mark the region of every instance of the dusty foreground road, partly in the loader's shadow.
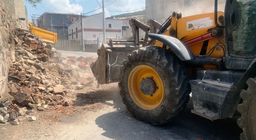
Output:
[[241,129],[235,119],[212,122],[192,114],[192,99],[172,124],[153,126],[126,111],[117,83],[107,87],[95,93],[102,95],[99,102],[103,109],[66,116],[53,125],[40,120],[4,125],[0,140],[239,140]]

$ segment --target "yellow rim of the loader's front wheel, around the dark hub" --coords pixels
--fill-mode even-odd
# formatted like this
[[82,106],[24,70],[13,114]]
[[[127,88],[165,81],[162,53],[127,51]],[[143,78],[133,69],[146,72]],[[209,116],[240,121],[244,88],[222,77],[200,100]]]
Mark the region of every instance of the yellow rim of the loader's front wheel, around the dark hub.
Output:
[[[140,89],[142,79],[152,78],[156,83],[156,91],[151,95],[145,95]],[[157,108],[164,97],[164,85],[159,74],[150,66],[139,65],[133,68],[128,78],[128,89],[132,100],[145,110]]]

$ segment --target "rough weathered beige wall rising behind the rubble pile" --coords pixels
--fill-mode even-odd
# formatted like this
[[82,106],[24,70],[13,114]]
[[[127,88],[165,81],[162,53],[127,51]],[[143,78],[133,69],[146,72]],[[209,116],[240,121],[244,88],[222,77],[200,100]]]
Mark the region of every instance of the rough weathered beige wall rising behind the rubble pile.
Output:
[[22,0],[0,1],[0,96],[7,91],[10,63],[15,60],[13,30],[16,27],[28,29],[26,21],[18,21],[20,17],[27,19],[26,6]]

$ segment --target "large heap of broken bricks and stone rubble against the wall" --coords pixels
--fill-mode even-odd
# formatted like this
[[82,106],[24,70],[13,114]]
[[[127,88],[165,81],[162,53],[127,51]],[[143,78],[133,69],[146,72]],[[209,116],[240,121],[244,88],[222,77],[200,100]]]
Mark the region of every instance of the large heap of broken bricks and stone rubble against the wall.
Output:
[[0,97],[0,123],[12,120],[13,125],[28,119],[30,110],[44,111],[49,105],[68,106],[64,99],[67,89],[83,89],[93,83],[88,73],[95,59],[62,57],[52,44],[40,36],[20,28],[15,29],[15,62],[8,73],[8,87],[12,99]]

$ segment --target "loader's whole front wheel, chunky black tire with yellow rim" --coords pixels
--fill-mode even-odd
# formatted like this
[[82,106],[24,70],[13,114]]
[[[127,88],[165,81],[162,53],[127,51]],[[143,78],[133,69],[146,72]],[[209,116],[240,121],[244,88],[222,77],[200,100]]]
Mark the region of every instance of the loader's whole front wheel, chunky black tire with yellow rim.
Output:
[[189,101],[191,86],[182,62],[170,51],[149,46],[132,52],[120,68],[120,95],[127,110],[154,125],[175,119]]

